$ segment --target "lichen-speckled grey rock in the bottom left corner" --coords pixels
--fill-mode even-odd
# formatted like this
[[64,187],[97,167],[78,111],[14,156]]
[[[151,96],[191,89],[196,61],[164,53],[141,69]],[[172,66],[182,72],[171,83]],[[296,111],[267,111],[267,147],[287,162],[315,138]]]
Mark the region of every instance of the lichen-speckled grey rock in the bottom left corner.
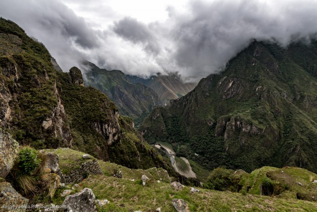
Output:
[[[29,200],[17,193],[8,182],[0,183],[0,208],[4,211],[25,212],[24,209],[3,209],[5,206],[27,206]],[[1,210],[1,211],[2,211]]]

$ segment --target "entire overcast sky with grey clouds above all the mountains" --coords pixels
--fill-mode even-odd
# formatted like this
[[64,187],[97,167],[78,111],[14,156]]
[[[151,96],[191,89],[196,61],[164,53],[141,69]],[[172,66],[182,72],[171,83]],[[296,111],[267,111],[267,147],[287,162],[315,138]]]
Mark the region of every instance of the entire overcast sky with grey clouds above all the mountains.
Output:
[[217,72],[253,39],[283,46],[317,32],[317,0],[0,0],[0,16],[45,44],[64,71],[187,79]]

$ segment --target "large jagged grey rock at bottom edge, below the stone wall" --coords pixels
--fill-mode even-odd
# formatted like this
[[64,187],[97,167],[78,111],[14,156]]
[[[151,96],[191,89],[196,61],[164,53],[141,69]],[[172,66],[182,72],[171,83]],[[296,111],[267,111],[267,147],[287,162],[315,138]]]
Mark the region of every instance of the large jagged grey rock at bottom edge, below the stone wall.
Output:
[[66,206],[66,212],[97,212],[95,195],[89,188],[65,198],[62,206]]

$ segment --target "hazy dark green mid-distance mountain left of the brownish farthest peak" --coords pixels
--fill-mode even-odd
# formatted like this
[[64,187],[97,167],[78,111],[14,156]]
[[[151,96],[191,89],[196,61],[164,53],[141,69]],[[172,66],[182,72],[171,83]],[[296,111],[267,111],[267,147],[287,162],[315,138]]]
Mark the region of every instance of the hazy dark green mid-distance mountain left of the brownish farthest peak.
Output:
[[100,69],[88,61],[83,65],[87,70],[85,84],[105,93],[123,115],[137,124],[161,104],[153,89],[142,83],[132,83],[122,71]]

